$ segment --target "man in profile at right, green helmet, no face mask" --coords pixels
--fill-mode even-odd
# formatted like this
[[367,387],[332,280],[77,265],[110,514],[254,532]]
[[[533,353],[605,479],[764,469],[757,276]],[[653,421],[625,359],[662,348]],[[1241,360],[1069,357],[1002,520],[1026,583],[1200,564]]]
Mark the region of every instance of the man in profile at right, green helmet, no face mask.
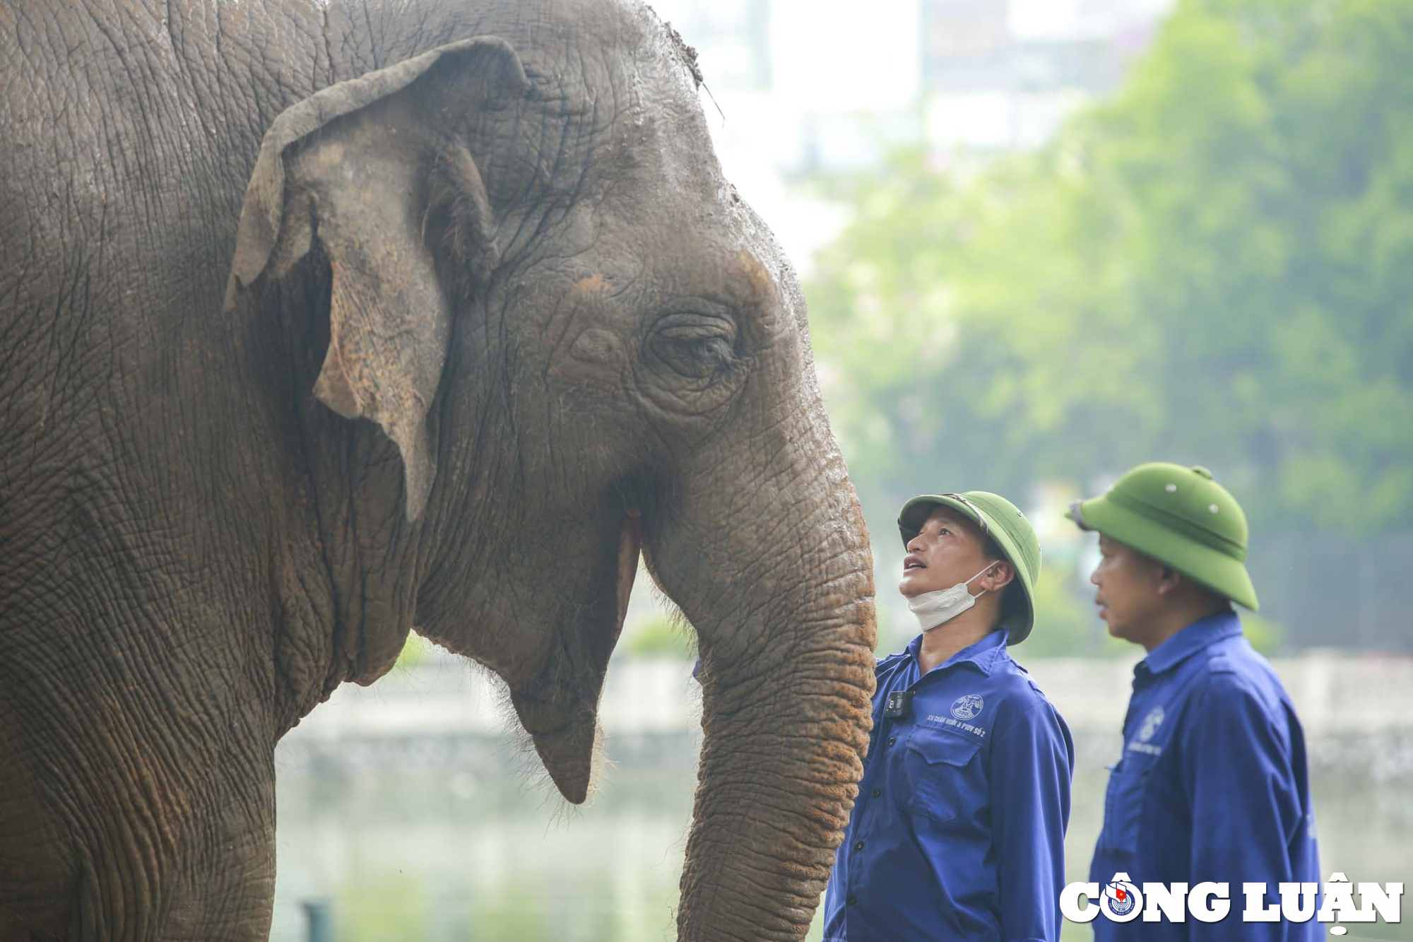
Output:
[[1099,617],[1111,635],[1147,651],[1133,668],[1123,754],[1109,774],[1089,880],[1211,881],[1232,901],[1222,921],[1149,922],[1135,918],[1132,902],[1125,909],[1121,887],[1101,894],[1094,938],[1321,938],[1314,919],[1239,915],[1249,905],[1242,884],[1265,884],[1263,908],[1279,909],[1279,884],[1320,880],[1304,734],[1231,605],[1258,604],[1241,506],[1207,468],[1154,463],[1077,502],[1070,516],[1099,533],[1089,577]]

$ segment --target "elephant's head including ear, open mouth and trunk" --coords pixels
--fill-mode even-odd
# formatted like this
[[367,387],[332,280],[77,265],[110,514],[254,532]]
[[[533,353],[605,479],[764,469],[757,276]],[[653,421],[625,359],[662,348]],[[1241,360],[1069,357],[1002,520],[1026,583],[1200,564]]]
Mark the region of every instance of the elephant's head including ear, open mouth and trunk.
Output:
[[866,747],[872,563],[796,276],[722,177],[690,51],[643,7],[523,3],[314,93],[264,137],[226,307],[305,345],[357,622],[333,682],[415,625],[504,679],[581,802],[642,552],[702,655],[680,936],[803,936]]

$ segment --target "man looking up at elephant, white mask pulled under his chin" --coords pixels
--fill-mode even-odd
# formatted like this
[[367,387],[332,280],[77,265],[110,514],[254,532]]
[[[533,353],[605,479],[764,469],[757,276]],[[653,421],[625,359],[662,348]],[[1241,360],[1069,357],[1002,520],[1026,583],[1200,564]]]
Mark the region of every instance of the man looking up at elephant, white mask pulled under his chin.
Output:
[[1056,941],[1074,744],[1006,652],[1034,624],[1040,543],[985,491],[913,498],[899,532],[923,634],[877,665],[824,942]]

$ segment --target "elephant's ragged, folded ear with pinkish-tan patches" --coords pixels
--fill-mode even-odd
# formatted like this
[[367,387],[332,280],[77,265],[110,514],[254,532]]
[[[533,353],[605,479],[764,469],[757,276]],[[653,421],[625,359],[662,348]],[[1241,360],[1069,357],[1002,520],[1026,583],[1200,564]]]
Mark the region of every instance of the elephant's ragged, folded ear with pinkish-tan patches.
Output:
[[397,444],[408,521],[435,477],[427,413],[452,318],[438,262],[482,281],[497,262],[486,187],[461,129],[528,86],[514,50],[495,37],[331,85],[274,120],[246,187],[225,310],[319,243],[332,287],[314,393]]

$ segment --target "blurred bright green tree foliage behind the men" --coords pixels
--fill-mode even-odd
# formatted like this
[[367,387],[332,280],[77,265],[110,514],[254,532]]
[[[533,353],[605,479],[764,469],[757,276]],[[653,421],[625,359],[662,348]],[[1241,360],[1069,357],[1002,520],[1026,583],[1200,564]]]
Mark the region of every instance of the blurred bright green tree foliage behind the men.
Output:
[[1046,150],[841,187],[807,293],[872,529],[1146,460],[1266,533],[1413,526],[1409,62],[1409,3],[1188,0]]

